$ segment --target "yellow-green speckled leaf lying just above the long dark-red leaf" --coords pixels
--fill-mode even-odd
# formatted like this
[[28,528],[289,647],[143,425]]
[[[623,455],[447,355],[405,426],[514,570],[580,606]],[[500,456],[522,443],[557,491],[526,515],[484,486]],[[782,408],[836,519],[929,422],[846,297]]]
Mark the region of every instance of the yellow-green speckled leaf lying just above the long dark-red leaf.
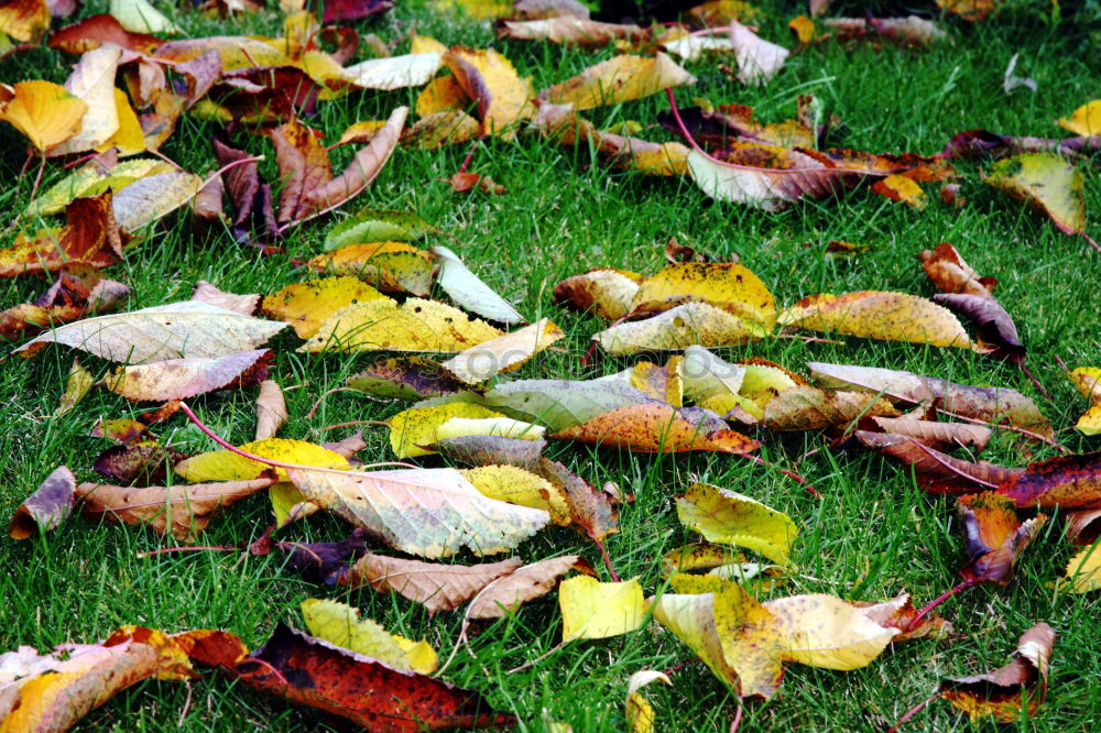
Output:
[[360,620],[359,612],[347,603],[309,599],[302,602],[302,615],[314,636],[395,669],[430,675],[439,665],[436,650],[428,642],[391,634],[371,619]]

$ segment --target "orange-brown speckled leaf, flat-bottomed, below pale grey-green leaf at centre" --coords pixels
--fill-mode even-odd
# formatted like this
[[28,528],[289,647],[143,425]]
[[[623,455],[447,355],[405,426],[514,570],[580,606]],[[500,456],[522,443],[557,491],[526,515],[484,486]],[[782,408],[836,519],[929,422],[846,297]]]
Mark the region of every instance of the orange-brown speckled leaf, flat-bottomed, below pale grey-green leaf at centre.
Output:
[[644,453],[687,450],[748,453],[761,447],[756,440],[734,430],[708,430],[706,418],[693,423],[690,417],[696,414],[686,409],[661,403],[620,407],[552,437]]

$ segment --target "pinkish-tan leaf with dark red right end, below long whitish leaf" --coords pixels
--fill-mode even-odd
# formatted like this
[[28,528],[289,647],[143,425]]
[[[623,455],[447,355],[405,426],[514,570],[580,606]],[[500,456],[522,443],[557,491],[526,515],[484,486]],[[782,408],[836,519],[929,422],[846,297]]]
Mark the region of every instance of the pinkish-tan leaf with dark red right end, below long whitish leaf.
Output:
[[120,368],[103,382],[111,392],[134,402],[186,400],[262,382],[274,358],[271,349],[259,349],[215,359],[167,359]]

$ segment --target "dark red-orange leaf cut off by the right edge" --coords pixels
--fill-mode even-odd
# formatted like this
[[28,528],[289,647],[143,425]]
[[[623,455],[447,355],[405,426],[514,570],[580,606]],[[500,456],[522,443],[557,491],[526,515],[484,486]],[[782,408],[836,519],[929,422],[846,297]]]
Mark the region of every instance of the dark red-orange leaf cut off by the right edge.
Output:
[[1101,452],[1058,456],[1029,463],[1020,474],[1006,480],[998,493],[1017,506],[1050,508],[1101,507]]

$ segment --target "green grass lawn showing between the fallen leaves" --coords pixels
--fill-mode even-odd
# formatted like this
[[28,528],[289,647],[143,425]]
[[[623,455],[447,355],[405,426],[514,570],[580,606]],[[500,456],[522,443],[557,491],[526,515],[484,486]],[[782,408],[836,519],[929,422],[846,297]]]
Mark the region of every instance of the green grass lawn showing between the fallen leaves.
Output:
[[[106,3],[89,2],[84,13]],[[475,47],[492,43],[531,75],[536,89],[557,83],[607,58],[611,50],[592,53],[553,45],[493,41],[488,26],[426,10],[422,3],[399,3],[385,17],[358,24],[384,40],[412,26],[445,44]],[[854,4],[854,3],[850,3]],[[871,152],[939,152],[956,132],[986,128],[1003,134],[1060,136],[1057,117],[1069,114],[1097,96],[1099,63],[1089,45],[1088,29],[1046,24],[1047,3],[1017,7],[985,24],[970,26],[951,20],[946,43],[923,51],[894,47],[824,45],[793,55],[764,88],[744,88],[720,73],[713,61],[689,64],[699,77],[695,88],[678,91],[712,102],[753,106],[761,120],[791,117],[795,97],[813,92],[840,116],[849,134],[846,147]],[[788,44],[786,20],[803,12],[803,3],[765,3],[761,23],[765,37]],[[1068,11],[1069,12],[1069,11]],[[276,32],[282,17],[265,12],[244,21],[215,21],[177,12],[190,36],[212,33]],[[1084,44],[1084,45],[1083,45]],[[405,48],[407,46],[401,46]],[[1018,75],[1032,76],[1038,90],[1002,91],[1002,70],[1021,53]],[[72,56],[47,48],[0,61],[0,80],[64,80]],[[384,119],[399,103],[415,101],[418,90],[362,92],[337,102],[321,102],[319,127],[329,140],[356,120]],[[642,136],[671,140],[654,124],[666,108],[664,97],[593,110],[598,125],[637,120]],[[209,139],[214,125],[185,118],[163,151],[192,171],[211,166]],[[238,140],[243,140],[243,136]],[[260,139],[249,150],[266,152],[262,173],[276,179],[274,155]],[[23,164],[24,143],[8,125],[0,127],[0,171],[13,182]],[[953,242],[983,275],[999,278],[998,297],[1013,315],[1028,346],[1031,370],[1046,385],[1044,398],[1010,363],[963,350],[839,337],[839,343],[767,339],[720,350],[729,359],[764,357],[805,372],[810,360],[906,369],[968,384],[1017,389],[1034,397],[1075,452],[1097,449],[1069,430],[1084,409],[1082,401],[1054,357],[1071,366],[1101,363],[1097,321],[1097,286],[1101,258],[1078,238],[1055,230],[1049,221],[1012,201],[979,179],[980,164],[960,163],[962,209],[940,204],[928,187],[929,205],[914,210],[866,190],[837,200],[806,201],[776,214],[715,204],[688,179],[655,180],[610,169],[586,149],[563,149],[536,135],[514,142],[488,140],[479,145],[471,171],[488,174],[508,193],[454,194],[446,178],[466,155],[467,146],[440,151],[399,150],[375,184],[347,209],[360,206],[416,211],[465,244],[451,247],[491,286],[531,320],[550,316],[568,335],[559,343],[568,353],[545,352],[525,365],[520,376],[584,379],[619,371],[634,359],[597,359],[582,366],[588,339],[602,324],[596,318],[562,311],[550,304],[558,280],[596,266],[619,266],[648,273],[663,264],[671,237],[715,258],[737,254],[773,289],[781,304],[811,293],[893,289],[928,295],[931,286],[916,254],[941,241]],[[352,151],[335,154],[342,166]],[[1088,210],[1101,204],[1095,168],[1083,165]],[[45,186],[59,179],[52,166]],[[30,200],[31,176],[6,184],[0,205],[22,210]],[[327,223],[292,231],[287,253],[306,258],[320,251]],[[1097,223],[1089,227],[1101,234]],[[4,231],[0,244],[14,232]],[[868,244],[853,258],[828,258],[831,240]],[[435,243],[435,242],[429,242]],[[285,255],[263,256],[232,242],[228,231],[196,233],[187,216],[157,225],[124,263],[107,271],[133,291],[133,309],[189,297],[198,280],[237,292],[272,292],[301,282],[304,273]],[[2,303],[33,299],[44,281],[14,278],[0,283]],[[372,355],[302,354],[290,337],[276,341],[273,373],[287,391],[292,418],[281,435],[303,440],[335,439],[347,431],[321,433],[325,426],[357,419],[384,419],[402,409],[347,393],[327,397],[312,419],[304,415],[318,396],[369,363]],[[144,409],[102,390],[92,391],[76,409],[52,419],[73,354],[51,348],[33,360],[9,358],[0,364],[0,516],[20,502],[57,464],[73,468],[81,480],[95,480],[91,460],[106,444],[85,437],[98,417],[132,416]],[[109,364],[81,357],[97,376]],[[199,415],[235,442],[252,437],[255,387],[224,392],[193,401]],[[163,442],[181,450],[214,447],[182,415],[153,427]],[[364,461],[391,458],[384,430],[369,428]],[[611,537],[609,553],[619,575],[639,576],[647,593],[662,589],[659,558],[694,537],[676,519],[674,497],[691,481],[706,480],[759,499],[788,513],[800,536],[794,561],[799,572],[774,595],[832,593],[851,600],[882,600],[901,591],[924,603],[957,582],[966,558],[959,522],[950,497],[926,494],[908,471],[866,453],[820,450],[816,433],[762,436],[766,460],[796,468],[825,495],[821,501],[773,470],[737,457],[691,453],[630,455],[584,446],[553,445],[549,452],[590,482],[617,481],[637,497],[621,512],[621,533]],[[1044,446],[1026,446],[1000,435],[983,458],[1024,466],[1047,458]],[[424,466],[442,461],[428,457]],[[270,522],[266,497],[240,502],[216,518],[203,541],[222,545],[255,539]],[[315,515],[283,533],[286,539],[334,540],[348,527],[339,519]],[[401,598],[371,590],[347,591],[305,582],[282,567],[282,559],[233,553],[190,553],[138,559],[138,554],[171,545],[145,529],[74,518],[57,530],[24,543],[0,540],[0,652],[18,645],[39,649],[66,643],[91,643],[116,627],[138,623],[178,632],[218,627],[261,644],[277,621],[302,627],[298,604],[307,598],[335,598],[363,610],[395,633],[426,637],[446,656],[458,636],[458,612],[429,619]],[[517,551],[525,561],[581,553],[595,565],[591,544],[569,529],[542,532]],[[981,587],[949,602],[942,613],[958,634],[947,641],[918,639],[889,649],[865,669],[833,672],[789,666],[781,694],[768,702],[750,701],[742,730],[883,730],[908,708],[928,697],[946,676],[984,671],[1003,664],[1017,636],[1047,621],[1059,633],[1051,687],[1038,715],[1020,730],[1089,730],[1101,713],[1101,661],[1097,654],[1101,606],[1098,595],[1058,594],[1049,584],[1061,575],[1071,547],[1058,522],[1050,522],[1027,549],[1016,580],[1006,588]],[[457,561],[468,562],[460,557]],[[602,566],[599,567],[604,572]],[[607,578],[604,578],[607,579]],[[691,654],[656,624],[618,638],[575,643],[548,659],[508,674],[553,647],[560,638],[554,594],[522,609],[515,617],[477,626],[471,638],[476,657],[460,650],[445,679],[483,691],[500,710],[514,712],[524,730],[543,730],[546,720],[566,721],[574,731],[621,730],[628,677],[640,669],[664,669],[691,659]],[[727,730],[734,698],[700,664],[673,676],[671,688],[647,690],[657,711],[658,730]],[[186,701],[189,701],[186,702]],[[182,718],[181,718],[182,716]],[[179,726],[177,727],[177,718]],[[117,696],[88,715],[79,730],[241,731],[318,730],[325,723],[314,711],[293,708],[225,679],[204,678],[188,690],[182,683],[146,681]],[[936,702],[904,730],[988,730],[989,722],[970,723],[945,702]],[[326,729],[327,730],[327,729]]]

